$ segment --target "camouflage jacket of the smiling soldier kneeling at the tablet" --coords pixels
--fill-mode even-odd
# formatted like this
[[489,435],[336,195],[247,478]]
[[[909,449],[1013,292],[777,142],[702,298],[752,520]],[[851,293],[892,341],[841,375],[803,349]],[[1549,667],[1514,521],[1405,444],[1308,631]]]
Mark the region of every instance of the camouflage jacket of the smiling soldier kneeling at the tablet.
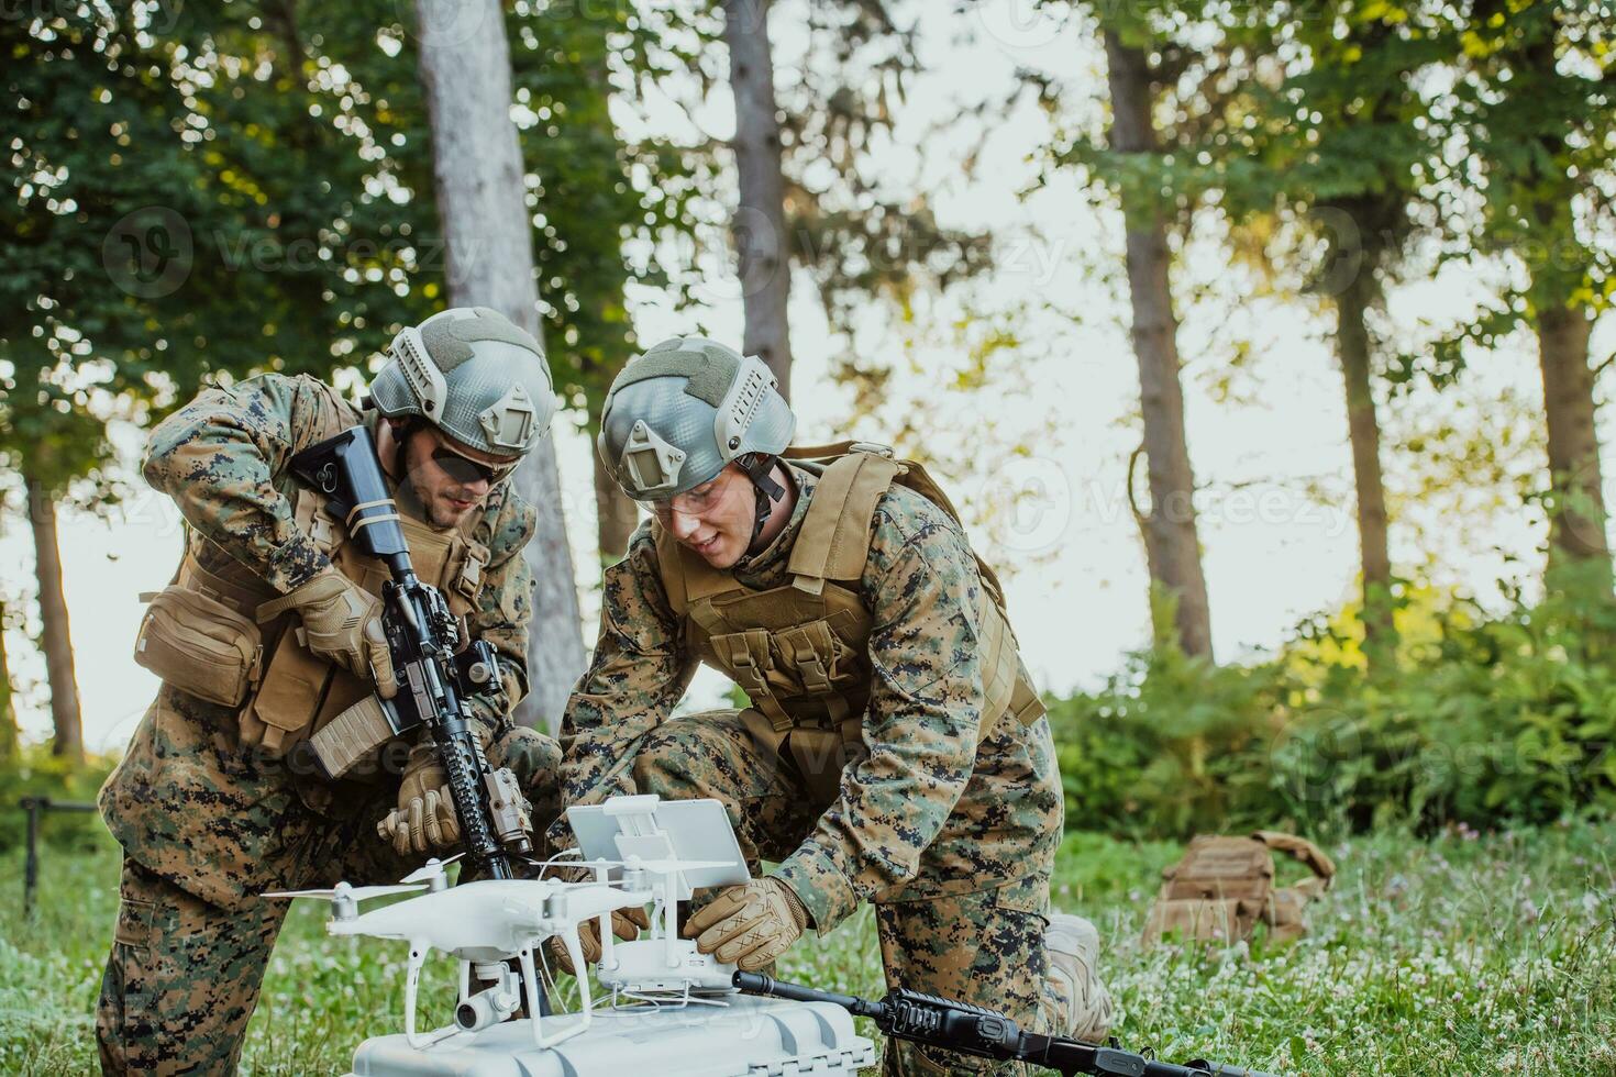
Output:
[[[790,467],[798,497],[785,530],[742,560],[756,589],[789,581],[792,544],[814,476]],[[876,507],[858,583],[874,618],[868,754],[779,870],[821,932],[858,901],[986,890],[1050,870],[1063,798],[1049,722],[1004,720],[978,743],[983,589],[970,543],[942,509],[902,486]],[[698,659],[685,647],[656,564],[650,523],[606,570],[600,641],[562,722],[562,796],[598,803],[627,786],[640,738],[666,722]],[[558,823],[553,840],[566,843]]]

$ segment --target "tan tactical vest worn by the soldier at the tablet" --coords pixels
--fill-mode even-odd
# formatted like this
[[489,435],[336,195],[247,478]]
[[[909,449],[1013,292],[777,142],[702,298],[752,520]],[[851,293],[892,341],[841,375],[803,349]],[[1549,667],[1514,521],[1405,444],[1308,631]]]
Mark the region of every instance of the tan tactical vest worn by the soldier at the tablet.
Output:
[[[751,701],[742,719],[774,752],[789,751],[818,799],[834,799],[842,767],[863,756],[869,704],[871,615],[858,593],[881,496],[908,486],[955,520],[958,512],[926,470],[866,442],[790,449],[787,460],[819,476],[792,544],[787,585],[753,589],[711,568],[659,526],[656,555],[685,646],[740,685]],[[1044,715],[1021,677],[999,578],[978,557],[991,602],[978,625],[986,699],[978,741],[1010,714],[1023,725]]]

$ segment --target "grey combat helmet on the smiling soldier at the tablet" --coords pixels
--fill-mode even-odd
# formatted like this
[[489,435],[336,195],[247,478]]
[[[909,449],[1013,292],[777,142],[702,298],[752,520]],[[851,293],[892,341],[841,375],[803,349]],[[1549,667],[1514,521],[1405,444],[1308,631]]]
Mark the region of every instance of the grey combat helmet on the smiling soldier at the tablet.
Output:
[[766,494],[766,520],[784,496],[769,471],[797,431],[777,384],[756,355],[700,336],[663,341],[612,381],[595,442],[601,462],[635,501],[674,497],[737,462]]

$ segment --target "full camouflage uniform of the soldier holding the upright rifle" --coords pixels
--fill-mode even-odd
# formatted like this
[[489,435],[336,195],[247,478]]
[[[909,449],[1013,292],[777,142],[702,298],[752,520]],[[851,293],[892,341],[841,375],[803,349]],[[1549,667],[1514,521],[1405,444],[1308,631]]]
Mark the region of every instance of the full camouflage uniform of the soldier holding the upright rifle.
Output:
[[[367,420],[375,417],[312,378],[267,375],[208,389],[152,433],[145,478],[179,504],[196,564],[221,576],[244,567],[265,594],[286,593],[330,565],[294,518],[288,460]],[[399,504],[412,512],[407,499]],[[469,627],[499,651],[506,678],[503,699],[472,701],[473,720],[543,825],[559,809],[559,748],[509,719],[527,689],[532,610],[520,549],[533,510],[504,483],[469,526],[490,554]],[[242,710],[165,683],[100,793],[124,851],[97,1009],[108,1072],[233,1071],[288,906],[259,895],[388,882],[414,865],[375,832],[394,806],[406,743],[389,744],[368,780],[328,782],[307,743],[284,759],[244,744]]]

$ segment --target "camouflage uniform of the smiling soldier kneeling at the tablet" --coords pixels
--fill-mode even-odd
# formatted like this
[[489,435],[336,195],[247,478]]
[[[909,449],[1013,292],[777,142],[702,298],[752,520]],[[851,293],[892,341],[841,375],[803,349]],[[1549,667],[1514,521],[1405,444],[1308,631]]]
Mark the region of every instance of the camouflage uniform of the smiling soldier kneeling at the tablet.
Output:
[[[790,522],[732,570],[748,588],[789,583],[818,481],[789,471],[798,491]],[[718,798],[751,869],[779,861],[774,874],[821,933],[860,901],[876,904],[889,985],[992,1006],[1026,1027],[1062,1027],[1068,999],[1044,975],[1062,830],[1054,743],[1046,719],[1021,725],[1008,714],[989,715],[978,740],[978,627],[991,597],[958,523],[903,486],[876,505],[856,583],[873,617],[873,677],[861,744],[832,762],[839,786],[805,773],[792,751],[774,751],[755,710],[667,717],[698,657],[672,612],[656,539],[648,522],[606,570],[600,643],[562,727],[566,803]],[[562,823],[553,836],[566,841]],[[991,1069],[913,1045],[892,1045],[884,1066]]]

